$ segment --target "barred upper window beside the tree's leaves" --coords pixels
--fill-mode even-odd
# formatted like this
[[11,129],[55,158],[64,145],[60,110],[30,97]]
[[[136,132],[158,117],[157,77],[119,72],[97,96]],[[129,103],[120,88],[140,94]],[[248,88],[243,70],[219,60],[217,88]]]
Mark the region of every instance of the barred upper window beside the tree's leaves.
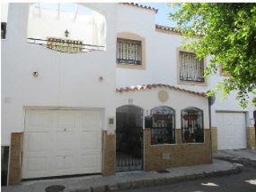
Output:
[[203,60],[195,54],[179,51],[179,79],[187,82],[204,82]]

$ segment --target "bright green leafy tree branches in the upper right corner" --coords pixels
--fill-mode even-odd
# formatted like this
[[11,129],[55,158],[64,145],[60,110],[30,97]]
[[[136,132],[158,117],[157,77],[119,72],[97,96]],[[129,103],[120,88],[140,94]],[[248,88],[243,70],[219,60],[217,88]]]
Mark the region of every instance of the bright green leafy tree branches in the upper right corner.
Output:
[[[237,98],[246,107],[249,94],[256,94],[256,4],[176,3],[170,18],[189,41],[184,47],[198,58],[210,57],[205,75],[216,73],[219,65],[229,74],[214,91],[223,95],[238,90]],[[194,40],[191,40],[191,39]]]

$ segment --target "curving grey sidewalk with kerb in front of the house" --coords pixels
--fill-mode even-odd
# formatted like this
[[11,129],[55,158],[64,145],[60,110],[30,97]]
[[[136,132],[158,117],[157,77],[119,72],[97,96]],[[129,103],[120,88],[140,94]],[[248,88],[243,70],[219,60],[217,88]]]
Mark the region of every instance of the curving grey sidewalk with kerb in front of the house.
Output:
[[[167,173],[157,171],[123,173],[111,176],[93,175],[78,178],[60,178],[22,182],[17,186],[2,186],[2,192],[45,192],[47,186],[65,186],[63,192],[102,192],[130,189],[141,186],[167,185],[207,176],[236,174],[238,166],[230,162],[214,159],[212,164],[182,166],[166,169]],[[55,190],[57,192],[59,190]],[[54,192],[54,191],[53,191]]]

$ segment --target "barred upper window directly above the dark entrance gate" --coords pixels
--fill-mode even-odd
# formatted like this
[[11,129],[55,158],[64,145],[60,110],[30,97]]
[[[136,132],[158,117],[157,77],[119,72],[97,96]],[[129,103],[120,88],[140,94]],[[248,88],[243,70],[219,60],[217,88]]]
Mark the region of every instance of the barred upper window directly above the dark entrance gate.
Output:
[[142,42],[118,38],[116,55],[118,64],[142,65]]

